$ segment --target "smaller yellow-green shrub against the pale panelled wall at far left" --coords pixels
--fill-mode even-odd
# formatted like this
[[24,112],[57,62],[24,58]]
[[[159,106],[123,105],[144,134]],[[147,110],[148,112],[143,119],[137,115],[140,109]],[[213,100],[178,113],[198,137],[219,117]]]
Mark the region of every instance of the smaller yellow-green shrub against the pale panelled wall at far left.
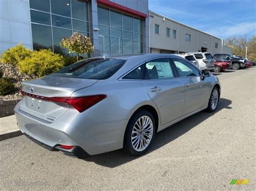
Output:
[[2,62],[17,66],[19,61],[24,60],[31,53],[32,51],[30,49],[25,48],[22,44],[18,44],[3,53]]

